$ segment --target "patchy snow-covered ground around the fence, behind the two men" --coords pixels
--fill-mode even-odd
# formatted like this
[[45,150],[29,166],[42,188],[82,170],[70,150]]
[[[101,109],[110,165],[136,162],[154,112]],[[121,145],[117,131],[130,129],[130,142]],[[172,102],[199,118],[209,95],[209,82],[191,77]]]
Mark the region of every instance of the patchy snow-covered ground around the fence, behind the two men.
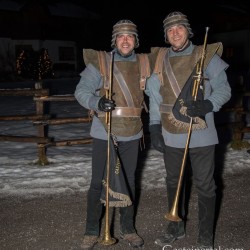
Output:
[[[0,115],[34,114],[31,97],[0,97]],[[86,111],[76,102],[51,103],[50,113],[57,117],[80,117]],[[2,135],[36,135],[31,121],[0,121]],[[50,126],[49,136],[55,139],[89,137],[90,124]],[[250,138],[250,137],[249,137]],[[226,145],[223,173],[250,168],[247,150],[233,150]],[[0,143],[0,195],[37,196],[62,192],[86,191],[91,177],[91,144],[83,146],[49,147],[50,165],[38,166],[34,143]],[[220,156],[222,157],[222,156]],[[153,149],[139,159],[141,187],[163,187],[165,170],[162,155]]]

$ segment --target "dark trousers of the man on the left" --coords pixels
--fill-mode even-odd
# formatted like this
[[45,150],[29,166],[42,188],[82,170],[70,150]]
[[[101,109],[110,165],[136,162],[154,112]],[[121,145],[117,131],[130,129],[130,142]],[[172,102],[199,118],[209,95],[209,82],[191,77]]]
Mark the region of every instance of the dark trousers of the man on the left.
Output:
[[[139,139],[119,142],[118,152],[121,165],[124,169],[128,183],[130,198],[134,204],[135,199],[135,171],[137,167]],[[102,180],[107,164],[107,141],[93,139],[92,151],[92,179],[88,191],[86,235],[99,235],[100,218],[103,205],[100,202],[103,189]],[[120,208],[120,230],[122,233],[135,232],[134,228],[134,205]]]

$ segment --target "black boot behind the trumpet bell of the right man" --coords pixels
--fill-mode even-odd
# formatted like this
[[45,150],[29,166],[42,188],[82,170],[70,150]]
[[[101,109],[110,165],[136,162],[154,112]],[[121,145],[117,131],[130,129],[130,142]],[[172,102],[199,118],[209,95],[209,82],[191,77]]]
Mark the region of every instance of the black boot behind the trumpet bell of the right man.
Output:
[[[175,199],[176,189],[167,187],[167,194],[168,194],[168,207],[169,211],[172,208],[173,201]],[[180,201],[181,209],[179,211],[179,216],[183,218],[184,216],[184,198],[181,195]],[[161,247],[164,247],[166,244],[172,243],[176,240],[182,239],[185,237],[185,223],[184,221],[174,222],[170,221],[167,226],[166,233],[163,236],[160,236],[155,240],[155,244]]]

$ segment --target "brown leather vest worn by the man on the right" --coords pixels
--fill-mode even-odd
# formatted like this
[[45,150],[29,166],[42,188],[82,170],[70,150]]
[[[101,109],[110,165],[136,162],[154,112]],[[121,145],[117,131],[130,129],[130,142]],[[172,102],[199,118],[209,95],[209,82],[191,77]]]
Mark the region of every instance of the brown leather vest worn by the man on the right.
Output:
[[[151,58],[155,58],[155,68],[154,73],[158,74],[159,80],[161,82],[160,94],[163,97],[163,102],[160,106],[161,112],[161,120],[164,129],[169,131],[170,133],[180,134],[187,133],[189,128],[189,123],[182,123],[175,119],[172,113],[172,107],[176,102],[176,95],[172,89],[170,81],[167,77],[165,67],[164,67],[164,57],[167,53],[167,48],[153,48],[152,49],[157,56],[151,56]],[[196,46],[191,55],[186,56],[178,56],[178,57],[170,57],[169,61],[174,73],[174,76],[178,82],[179,88],[182,89],[186,84],[188,78],[192,74],[194,68],[197,65],[197,62],[200,60],[202,56],[203,46]],[[162,53],[162,54],[160,54]],[[165,54],[164,54],[165,53]],[[208,44],[206,48],[206,57],[204,60],[204,69],[209,64],[210,60],[214,56],[214,54],[218,54],[221,56],[222,54],[222,44],[214,43]],[[167,107],[167,108],[164,108]],[[197,118],[197,124],[203,121]],[[204,128],[205,124],[196,125],[193,124],[192,129],[200,129]]]

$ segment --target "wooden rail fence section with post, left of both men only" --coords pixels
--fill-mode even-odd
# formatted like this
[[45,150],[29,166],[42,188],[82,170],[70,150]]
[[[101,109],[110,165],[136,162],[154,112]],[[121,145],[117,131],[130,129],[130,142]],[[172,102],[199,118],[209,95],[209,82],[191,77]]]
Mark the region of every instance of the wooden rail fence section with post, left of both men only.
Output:
[[14,116],[0,116],[0,121],[22,121],[30,120],[33,125],[37,127],[37,136],[17,136],[17,135],[0,135],[0,141],[12,142],[29,142],[36,143],[38,147],[38,164],[49,164],[46,151],[49,146],[72,146],[79,144],[92,143],[91,138],[67,139],[55,141],[48,137],[49,125],[60,125],[67,123],[89,123],[91,118],[86,117],[66,117],[66,118],[52,118],[50,114],[46,114],[45,102],[59,102],[59,101],[76,101],[73,95],[49,95],[49,89],[43,88],[43,82],[36,82],[35,88],[27,89],[1,89],[0,96],[33,96],[36,105],[36,113],[34,115],[14,115]]

